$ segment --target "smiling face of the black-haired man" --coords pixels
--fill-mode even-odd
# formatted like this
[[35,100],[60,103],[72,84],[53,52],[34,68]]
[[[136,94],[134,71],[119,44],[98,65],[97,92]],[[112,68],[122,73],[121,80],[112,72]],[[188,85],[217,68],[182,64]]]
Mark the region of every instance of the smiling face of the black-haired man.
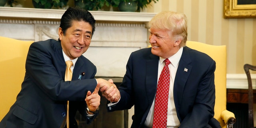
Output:
[[64,53],[73,60],[89,48],[92,39],[92,26],[88,22],[73,21],[64,34],[59,28],[59,38]]

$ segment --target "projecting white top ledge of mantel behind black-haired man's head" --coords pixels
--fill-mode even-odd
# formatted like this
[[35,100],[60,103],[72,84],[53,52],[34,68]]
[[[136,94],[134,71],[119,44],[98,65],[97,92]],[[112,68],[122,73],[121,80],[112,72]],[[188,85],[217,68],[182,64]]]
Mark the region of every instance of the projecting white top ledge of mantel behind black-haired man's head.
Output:
[[[0,18],[58,20],[66,10],[0,7]],[[97,21],[148,22],[155,13],[90,11]]]

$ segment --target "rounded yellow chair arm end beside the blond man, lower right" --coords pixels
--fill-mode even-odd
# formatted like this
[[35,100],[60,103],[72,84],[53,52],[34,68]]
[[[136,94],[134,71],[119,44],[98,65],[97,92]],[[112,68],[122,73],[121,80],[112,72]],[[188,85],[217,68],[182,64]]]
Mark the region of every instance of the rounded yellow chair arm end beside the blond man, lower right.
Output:
[[227,128],[233,128],[233,124],[236,122],[234,113],[228,110],[221,112],[221,119],[227,124]]

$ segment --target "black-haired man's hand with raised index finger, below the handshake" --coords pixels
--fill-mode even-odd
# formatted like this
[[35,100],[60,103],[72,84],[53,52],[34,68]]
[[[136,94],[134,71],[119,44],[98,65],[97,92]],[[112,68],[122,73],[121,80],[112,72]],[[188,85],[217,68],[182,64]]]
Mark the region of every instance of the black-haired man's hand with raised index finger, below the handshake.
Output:
[[[97,108],[100,106],[100,95],[98,94],[100,90],[100,84],[98,83],[94,92],[88,91],[86,94],[86,104],[90,111],[95,112]],[[93,114],[91,112],[88,112],[89,114]]]

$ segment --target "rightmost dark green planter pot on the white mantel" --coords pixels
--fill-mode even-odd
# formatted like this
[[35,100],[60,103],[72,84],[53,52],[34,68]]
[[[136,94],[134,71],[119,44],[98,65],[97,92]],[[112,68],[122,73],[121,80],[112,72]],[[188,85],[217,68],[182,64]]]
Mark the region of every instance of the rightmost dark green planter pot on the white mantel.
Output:
[[121,12],[136,12],[137,3],[132,0],[130,2],[121,2],[118,8]]

